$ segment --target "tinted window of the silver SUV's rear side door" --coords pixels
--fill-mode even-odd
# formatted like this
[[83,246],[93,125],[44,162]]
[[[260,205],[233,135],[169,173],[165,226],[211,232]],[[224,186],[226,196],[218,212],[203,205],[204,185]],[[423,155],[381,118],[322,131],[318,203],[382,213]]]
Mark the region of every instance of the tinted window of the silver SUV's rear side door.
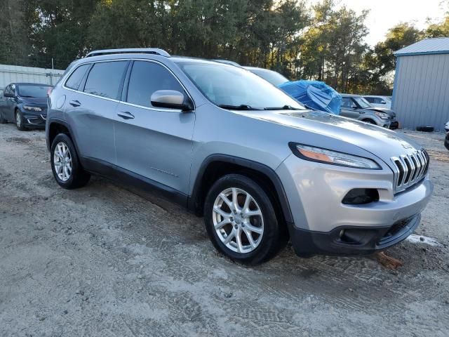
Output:
[[126,65],[128,61],[95,63],[88,74],[84,92],[115,100]]

